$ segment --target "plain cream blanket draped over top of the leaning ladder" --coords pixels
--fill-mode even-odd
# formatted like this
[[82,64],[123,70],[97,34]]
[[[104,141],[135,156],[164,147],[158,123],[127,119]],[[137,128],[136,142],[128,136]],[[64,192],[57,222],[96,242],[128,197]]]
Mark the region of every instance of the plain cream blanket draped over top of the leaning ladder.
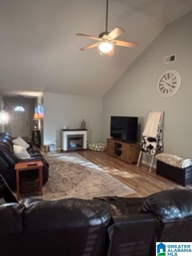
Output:
[[150,112],[145,129],[143,131],[143,136],[156,138],[158,134],[158,125],[161,120],[161,112]]

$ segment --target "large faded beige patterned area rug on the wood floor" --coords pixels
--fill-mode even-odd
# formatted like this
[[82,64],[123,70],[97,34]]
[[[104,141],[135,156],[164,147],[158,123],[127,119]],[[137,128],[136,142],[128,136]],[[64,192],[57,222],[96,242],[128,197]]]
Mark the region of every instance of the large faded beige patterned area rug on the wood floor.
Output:
[[100,196],[125,196],[135,191],[78,153],[44,155],[49,180],[43,187],[45,200],[67,197],[92,199]]

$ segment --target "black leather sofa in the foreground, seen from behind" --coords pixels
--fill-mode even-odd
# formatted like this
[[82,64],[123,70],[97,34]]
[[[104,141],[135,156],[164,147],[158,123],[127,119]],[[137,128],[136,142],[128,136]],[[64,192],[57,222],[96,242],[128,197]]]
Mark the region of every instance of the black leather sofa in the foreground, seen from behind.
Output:
[[1,205],[0,216],[0,255],[155,256],[156,241],[192,241],[192,190],[30,199]]

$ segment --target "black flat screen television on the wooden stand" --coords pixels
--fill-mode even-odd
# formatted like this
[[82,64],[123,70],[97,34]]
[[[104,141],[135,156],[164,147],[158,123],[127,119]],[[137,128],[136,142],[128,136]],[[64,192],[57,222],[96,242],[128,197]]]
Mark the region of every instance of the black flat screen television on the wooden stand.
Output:
[[138,117],[111,116],[110,136],[129,143],[137,142]]

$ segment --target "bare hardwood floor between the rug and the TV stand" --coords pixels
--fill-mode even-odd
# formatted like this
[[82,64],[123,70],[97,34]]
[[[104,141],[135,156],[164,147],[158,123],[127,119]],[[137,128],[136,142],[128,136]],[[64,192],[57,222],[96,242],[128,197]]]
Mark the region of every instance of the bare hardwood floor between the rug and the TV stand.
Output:
[[127,197],[146,197],[161,190],[174,188],[192,189],[192,185],[183,187],[157,175],[155,169],[149,173],[149,166],[144,164],[137,167],[137,164],[128,164],[106,152],[85,150],[78,153],[136,191]]

